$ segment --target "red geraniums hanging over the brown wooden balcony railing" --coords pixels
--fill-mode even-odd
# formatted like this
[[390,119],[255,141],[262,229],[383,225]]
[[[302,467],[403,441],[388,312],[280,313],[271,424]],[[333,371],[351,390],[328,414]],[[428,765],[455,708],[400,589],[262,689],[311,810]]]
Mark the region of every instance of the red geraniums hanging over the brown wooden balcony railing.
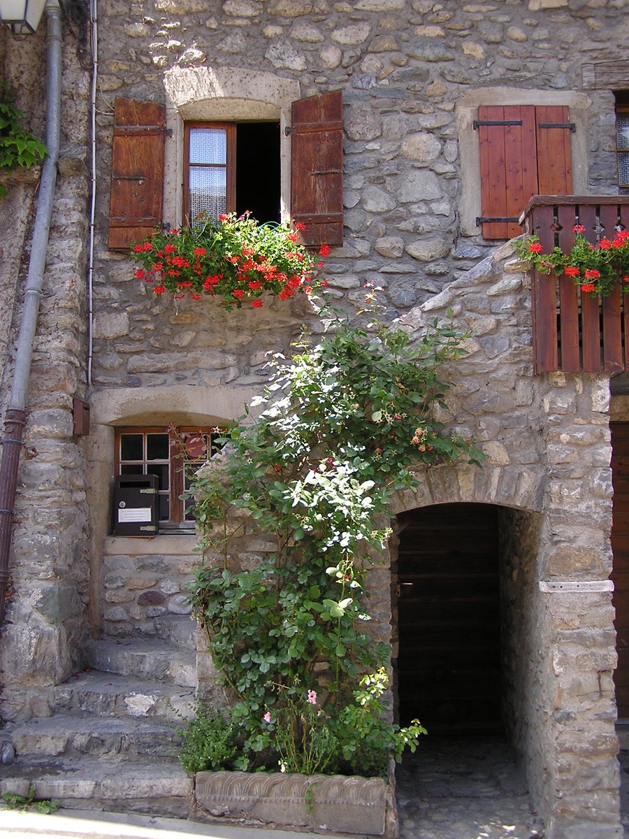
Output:
[[619,281],[629,283],[629,231],[618,230],[613,239],[602,237],[595,245],[587,241],[585,227],[576,224],[574,245],[569,253],[553,248],[543,253],[537,236],[516,242],[517,254],[534,265],[540,274],[565,274],[572,277],[585,294],[608,297]]

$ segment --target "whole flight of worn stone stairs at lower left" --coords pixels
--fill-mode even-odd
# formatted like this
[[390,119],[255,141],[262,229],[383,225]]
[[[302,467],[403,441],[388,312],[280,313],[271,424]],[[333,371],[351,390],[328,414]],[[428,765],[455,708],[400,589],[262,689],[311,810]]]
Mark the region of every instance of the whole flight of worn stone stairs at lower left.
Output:
[[195,623],[155,618],[157,638],[103,638],[89,668],[54,689],[52,717],[3,732],[15,761],[0,792],[65,807],[187,817],[192,779],[177,758],[182,717],[195,701]]

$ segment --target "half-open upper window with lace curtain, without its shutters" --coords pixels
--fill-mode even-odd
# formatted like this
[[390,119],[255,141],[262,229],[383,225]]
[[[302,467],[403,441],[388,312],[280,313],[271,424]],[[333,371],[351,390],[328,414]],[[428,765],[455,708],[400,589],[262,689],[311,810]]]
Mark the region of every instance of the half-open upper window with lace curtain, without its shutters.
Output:
[[279,221],[278,122],[187,122],[184,149],[189,223],[247,210],[257,221]]

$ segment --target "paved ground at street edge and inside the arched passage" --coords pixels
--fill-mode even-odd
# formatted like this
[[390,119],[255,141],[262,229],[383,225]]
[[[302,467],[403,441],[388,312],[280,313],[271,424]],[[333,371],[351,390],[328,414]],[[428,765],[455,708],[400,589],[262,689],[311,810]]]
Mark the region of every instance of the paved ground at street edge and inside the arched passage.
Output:
[[[624,746],[624,743],[623,743]],[[627,744],[629,747],[629,743]],[[620,753],[621,810],[629,839],[629,748]],[[496,737],[426,737],[398,767],[400,839],[543,839],[512,751]],[[63,810],[0,813],[7,839],[303,839],[290,831]],[[335,839],[335,837],[330,837]]]

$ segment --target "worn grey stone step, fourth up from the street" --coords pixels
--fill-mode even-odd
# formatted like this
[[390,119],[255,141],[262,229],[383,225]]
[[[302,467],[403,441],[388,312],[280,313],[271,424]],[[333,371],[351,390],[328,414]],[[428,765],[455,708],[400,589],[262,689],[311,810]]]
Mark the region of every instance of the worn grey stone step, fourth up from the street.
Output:
[[94,670],[173,681],[183,687],[196,686],[196,655],[191,650],[169,647],[162,639],[102,638],[91,641],[88,663]]

